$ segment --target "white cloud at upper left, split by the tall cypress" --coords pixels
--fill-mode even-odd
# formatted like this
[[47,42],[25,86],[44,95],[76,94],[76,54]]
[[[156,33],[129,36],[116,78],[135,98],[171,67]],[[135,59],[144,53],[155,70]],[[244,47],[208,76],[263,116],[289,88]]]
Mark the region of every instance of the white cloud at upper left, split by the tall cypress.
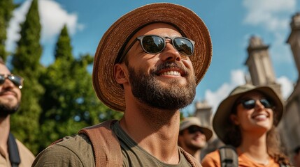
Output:
[[[6,49],[13,51],[15,42],[20,39],[20,23],[24,22],[31,0],[24,1],[19,8],[13,11],[13,18],[7,29],[8,39]],[[78,24],[78,16],[75,13],[68,13],[59,3],[52,0],[39,0],[38,10],[41,18],[41,41],[52,42],[62,30],[64,24],[68,26],[69,33],[74,34],[77,30],[84,28],[83,24]]]

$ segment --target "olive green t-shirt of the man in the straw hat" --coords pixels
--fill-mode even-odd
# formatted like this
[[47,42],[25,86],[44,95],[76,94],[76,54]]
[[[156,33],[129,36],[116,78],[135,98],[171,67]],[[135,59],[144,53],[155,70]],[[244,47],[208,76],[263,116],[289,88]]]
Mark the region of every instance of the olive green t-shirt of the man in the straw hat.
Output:
[[[120,141],[123,166],[191,166],[179,150],[180,162],[177,165],[165,164],[139,147],[122,130],[119,122],[116,122],[112,129]],[[66,136],[63,141],[49,146],[38,154],[32,166],[95,166],[91,142],[83,134]]]

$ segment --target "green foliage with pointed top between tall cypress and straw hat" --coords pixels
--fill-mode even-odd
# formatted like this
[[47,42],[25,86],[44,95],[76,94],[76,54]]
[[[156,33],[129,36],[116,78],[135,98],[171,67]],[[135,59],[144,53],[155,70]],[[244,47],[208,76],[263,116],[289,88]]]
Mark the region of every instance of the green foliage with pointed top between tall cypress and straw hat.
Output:
[[41,101],[41,150],[58,138],[76,134],[83,127],[122,115],[97,99],[91,74],[87,71],[92,61],[88,54],[73,58],[71,39],[64,26],[55,47],[55,62],[41,77],[45,88]]

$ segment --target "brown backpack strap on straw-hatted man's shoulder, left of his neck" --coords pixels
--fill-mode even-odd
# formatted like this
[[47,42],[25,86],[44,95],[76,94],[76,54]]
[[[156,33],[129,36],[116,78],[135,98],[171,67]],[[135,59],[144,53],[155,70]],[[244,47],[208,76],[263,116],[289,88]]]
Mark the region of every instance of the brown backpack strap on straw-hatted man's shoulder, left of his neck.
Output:
[[96,167],[122,166],[123,164],[120,142],[110,129],[116,121],[107,120],[92,127],[85,127],[78,132],[90,138]]

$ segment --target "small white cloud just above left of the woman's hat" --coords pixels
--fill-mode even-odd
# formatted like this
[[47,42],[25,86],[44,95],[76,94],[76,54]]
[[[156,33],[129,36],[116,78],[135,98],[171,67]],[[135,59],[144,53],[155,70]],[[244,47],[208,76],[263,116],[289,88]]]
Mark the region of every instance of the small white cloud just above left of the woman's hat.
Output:
[[242,70],[232,70],[231,71],[231,81],[230,83],[224,83],[218,90],[215,92],[211,90],[206,90],[205,99],[212,106],[213,113],[217,109],[217,106],[224,100],[231,90],[233,90],[236,86],[245,84],[245,74]]

